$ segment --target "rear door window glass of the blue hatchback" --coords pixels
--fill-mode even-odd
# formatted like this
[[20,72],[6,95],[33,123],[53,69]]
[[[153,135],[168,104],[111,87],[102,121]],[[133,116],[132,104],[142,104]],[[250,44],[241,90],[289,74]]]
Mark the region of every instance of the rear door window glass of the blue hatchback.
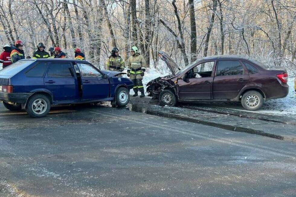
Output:
[[47,77],[67,78],[74,77],[70,63],[51,63],[47,72]]

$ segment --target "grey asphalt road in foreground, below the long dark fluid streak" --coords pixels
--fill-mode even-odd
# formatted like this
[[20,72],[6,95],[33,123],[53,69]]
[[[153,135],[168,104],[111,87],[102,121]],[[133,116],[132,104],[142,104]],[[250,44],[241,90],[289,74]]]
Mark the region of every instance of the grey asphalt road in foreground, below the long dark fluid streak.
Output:
[[296,196],[295,148],[126,108],[0,104],[0,196]]

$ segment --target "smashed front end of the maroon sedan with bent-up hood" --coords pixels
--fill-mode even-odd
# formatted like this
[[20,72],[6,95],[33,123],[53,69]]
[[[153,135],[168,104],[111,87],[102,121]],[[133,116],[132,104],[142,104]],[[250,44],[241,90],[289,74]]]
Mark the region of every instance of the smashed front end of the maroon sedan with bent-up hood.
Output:
[[158,56],[160,57],[160,59],[166,62],[166,65],[169,67],[170,71],[172,72],[172,75],[158,77],[156,79],[149,81],[146,90],[147,93],[149,93],[148,96],[152,97],[152,99],[159,99],[159,94],[166,89],[170,89],[174,91],[175,95],[178,95],[177,76],[180,68],[174,62],[174,60],[165,52],[159,51]]

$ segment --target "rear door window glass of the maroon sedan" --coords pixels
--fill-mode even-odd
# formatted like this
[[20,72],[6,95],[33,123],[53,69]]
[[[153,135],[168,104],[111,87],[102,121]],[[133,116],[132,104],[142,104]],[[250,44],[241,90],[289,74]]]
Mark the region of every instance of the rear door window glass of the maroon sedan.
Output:
[[220,60],[217,66],[217,76],[243,75],[244,68],[239,61]]

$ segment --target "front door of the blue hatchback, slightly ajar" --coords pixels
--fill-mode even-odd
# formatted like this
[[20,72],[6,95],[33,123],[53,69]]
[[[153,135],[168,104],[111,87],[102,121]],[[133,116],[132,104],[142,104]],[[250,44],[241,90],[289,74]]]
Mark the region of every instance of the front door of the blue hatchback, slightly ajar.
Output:
[[100,100],[109,97],[110,83],[90,64],[77,63],[82,78],[82,100]]

